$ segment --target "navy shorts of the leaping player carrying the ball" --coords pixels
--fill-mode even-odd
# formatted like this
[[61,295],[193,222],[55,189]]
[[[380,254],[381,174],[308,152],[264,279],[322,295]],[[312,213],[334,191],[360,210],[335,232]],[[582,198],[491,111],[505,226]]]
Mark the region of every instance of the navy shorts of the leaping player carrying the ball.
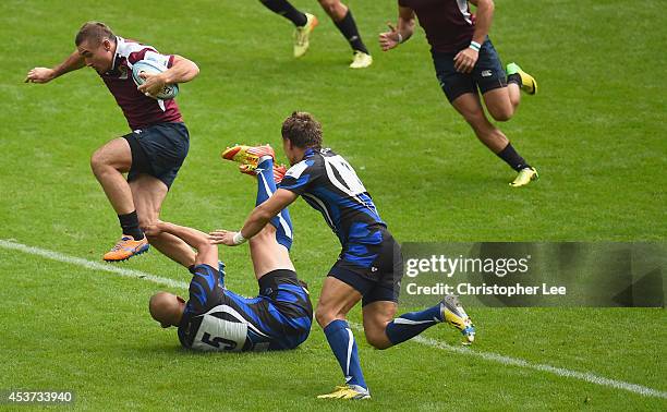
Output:
[[175,179],[190,149],[190,134],[184,123],[158,123],[135,130],[123,136],[132,150],[132,167],[128,181],[140,173],[161,180],[167,189]]

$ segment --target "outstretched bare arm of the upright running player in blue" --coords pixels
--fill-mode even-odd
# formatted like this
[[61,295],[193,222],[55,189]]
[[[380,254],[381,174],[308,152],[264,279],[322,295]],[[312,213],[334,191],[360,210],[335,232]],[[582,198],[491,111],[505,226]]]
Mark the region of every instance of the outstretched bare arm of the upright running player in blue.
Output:
[[215,230],[210,232],[210,242],[214,244],[222,243],[228,246],[235,246],[245,242],[247,239],[259,233],[274,216],[288,207],[296,197],[299,197],[299,195],[293,192],[278,189],[268,201],[255,207],[239,232]]

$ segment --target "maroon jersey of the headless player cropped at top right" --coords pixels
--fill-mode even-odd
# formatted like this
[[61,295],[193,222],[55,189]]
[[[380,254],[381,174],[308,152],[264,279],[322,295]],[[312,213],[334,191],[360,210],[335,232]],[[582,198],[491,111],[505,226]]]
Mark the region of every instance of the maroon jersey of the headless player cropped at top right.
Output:
[[475,32],[468,0],[399,0],[414,10],[432,51],[453,53],[470,46]]

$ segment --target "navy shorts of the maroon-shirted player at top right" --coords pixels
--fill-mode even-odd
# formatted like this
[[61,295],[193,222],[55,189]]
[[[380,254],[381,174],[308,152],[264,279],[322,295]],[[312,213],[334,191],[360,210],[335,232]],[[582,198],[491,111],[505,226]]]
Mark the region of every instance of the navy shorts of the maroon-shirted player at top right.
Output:
[[500,63],[498,52],[487,37],[480,48],[480,58],[471,73],[457,72],[453,58],[457,53],[432,52],[436,76],[447,99],[451,102],[466,93],[482,94],[507,87],[507,74]]

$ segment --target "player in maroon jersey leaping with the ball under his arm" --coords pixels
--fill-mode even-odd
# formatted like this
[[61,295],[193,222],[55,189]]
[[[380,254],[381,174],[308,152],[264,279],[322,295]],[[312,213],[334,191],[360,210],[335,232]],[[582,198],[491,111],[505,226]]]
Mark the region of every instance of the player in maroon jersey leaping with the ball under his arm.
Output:
[[[48,83],[68,72],[88,66],[105,82],[123,111],[132,133],[98,148],[90,158],[93,173],[118,214],[121,240],[104,255],[108,262],[125,260],[146,252],[148,242],[183,266],[194,264],[194,253],[180,239],[160,233],[146,237],[142,227],[154,225],[167,192],[187,155],[190,135],[174,100],[156,100],[165,85],[193,80],[199,69],[177,54],[160,54],[155,48],[116,36],[99,22],[84,24],[75,39],[76,51],[53,69],[34,68],[26,82]],[[143,74],[137,88],[132,65],[151,60],[169,69]],[[129,172],[128,180],[122,173]]]

